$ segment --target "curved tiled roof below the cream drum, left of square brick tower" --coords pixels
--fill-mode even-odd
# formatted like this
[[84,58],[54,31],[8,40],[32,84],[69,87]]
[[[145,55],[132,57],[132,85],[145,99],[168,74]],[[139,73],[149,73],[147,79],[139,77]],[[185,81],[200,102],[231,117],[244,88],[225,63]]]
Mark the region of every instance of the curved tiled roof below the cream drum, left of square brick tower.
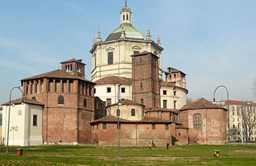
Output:
[[133,79],[121,77],[121,76],[106,76],[102,79],[97,80],[97,84],[131,84]]

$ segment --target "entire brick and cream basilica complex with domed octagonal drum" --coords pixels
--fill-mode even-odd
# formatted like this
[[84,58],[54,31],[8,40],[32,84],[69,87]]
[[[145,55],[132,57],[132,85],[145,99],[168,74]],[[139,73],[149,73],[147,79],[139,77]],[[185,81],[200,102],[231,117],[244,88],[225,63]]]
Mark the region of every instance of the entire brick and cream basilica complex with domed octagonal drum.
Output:
[[[187,105],[186,74],[162,69],[162,51],[159,36],[133,26],[125,1],[118,28],[93,41],[92,79],[75,58],[22,79],[24,96],[2,104],[3,137],[21,146],[226,143],[226,109],[203,98]],[[10,126],[19,126],[16,137]]]

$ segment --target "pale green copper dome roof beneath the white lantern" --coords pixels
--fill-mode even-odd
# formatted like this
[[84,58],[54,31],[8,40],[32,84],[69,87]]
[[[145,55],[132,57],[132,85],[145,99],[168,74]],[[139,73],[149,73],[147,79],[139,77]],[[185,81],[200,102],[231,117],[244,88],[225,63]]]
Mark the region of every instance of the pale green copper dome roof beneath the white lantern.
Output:
[[144,40],[145,37],[142,35],[141,32],[139,32],[137,29],[133,27],[133,25],[128,24],[128,23],[123,23],[115,29],[109,37],[107,37],[106,41],[111,41],[111,40],[117,40],[121,38],[122,31],[125,31],[125,37],[130,38],[130,39],[141,39]]

